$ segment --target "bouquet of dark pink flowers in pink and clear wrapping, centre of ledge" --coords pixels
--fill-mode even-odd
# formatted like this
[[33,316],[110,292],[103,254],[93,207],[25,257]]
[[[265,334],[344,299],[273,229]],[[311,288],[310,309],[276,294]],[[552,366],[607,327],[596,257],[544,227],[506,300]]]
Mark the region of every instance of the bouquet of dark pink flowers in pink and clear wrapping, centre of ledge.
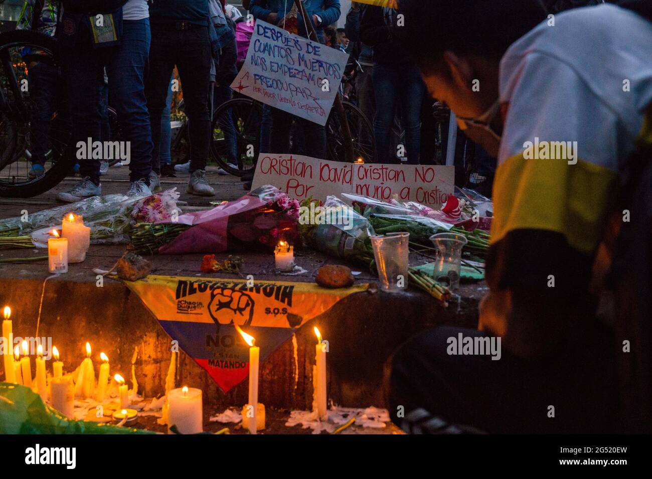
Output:
[[179,216],[176,222],[136,225],[138,254],[273,250],[279,240],[299,242],[299,202],[274,186],[261,186],[234,201]]

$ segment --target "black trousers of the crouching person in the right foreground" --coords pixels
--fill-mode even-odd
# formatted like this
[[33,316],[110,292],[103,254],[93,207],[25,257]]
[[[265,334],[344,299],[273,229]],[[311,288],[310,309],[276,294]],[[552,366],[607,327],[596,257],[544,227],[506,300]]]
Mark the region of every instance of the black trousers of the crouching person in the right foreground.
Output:
[[[478,330],[437,327],[418,334],[394,355],[389,412],[425,409],[442,420],[488,433],[613,431],[612,344],[599,333],[569,341],[566,353],[530,362],[511,355],[449,355],[448,339],[484,336]],[[550,406],[554,417],[549,417]]]

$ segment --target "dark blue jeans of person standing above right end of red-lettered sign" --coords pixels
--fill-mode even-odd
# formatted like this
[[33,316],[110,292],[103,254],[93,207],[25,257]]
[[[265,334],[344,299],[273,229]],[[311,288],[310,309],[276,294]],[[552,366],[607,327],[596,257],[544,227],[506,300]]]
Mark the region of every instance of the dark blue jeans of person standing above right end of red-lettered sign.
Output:
[[421,102],[425,91],[417,66],[374,64],[372,74],[376,93],[374,136],[378,163],[389,163],[390,130],[396,107],[401,105],[401,127],[406,132],[408,164],[419,164],[421,147]]

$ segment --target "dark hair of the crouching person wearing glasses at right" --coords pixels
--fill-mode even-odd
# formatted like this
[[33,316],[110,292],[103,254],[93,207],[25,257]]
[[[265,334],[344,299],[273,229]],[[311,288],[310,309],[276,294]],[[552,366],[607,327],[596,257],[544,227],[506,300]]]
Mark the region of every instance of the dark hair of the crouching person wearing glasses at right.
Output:
[[499,59],[546,18],[541,0],[398,0],[404,26],[396,40],[422,69],[437,68],[446,50]]

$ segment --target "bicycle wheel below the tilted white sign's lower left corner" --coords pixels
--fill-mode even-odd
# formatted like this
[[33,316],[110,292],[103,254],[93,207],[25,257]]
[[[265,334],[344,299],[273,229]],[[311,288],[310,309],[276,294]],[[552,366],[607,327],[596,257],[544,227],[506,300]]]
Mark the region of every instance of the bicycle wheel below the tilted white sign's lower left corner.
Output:
[[211,154],[222,169],[241,177],[256,167],[262,119],[263,106],[250,98],[233,98],[215,110]]

